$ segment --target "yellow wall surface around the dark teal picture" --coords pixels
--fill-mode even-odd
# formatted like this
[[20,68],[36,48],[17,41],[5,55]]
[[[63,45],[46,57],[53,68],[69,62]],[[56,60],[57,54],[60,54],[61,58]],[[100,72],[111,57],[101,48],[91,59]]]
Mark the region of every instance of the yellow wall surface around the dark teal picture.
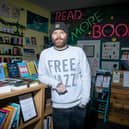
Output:
[[[39,54],[44,49],[44,37],[49,37],[49,26],[50,26],[50,11],[47,9],[43,9],[37,5],[34,5],[33,3],[27,2],[26,0],[8,0],[8,3],[12,6],[17,7],[20,9],[20,18],[19,23],[23,26],[25,26],[24,29],[24,37],[29,37],[31,40],[31,37],[36,38],[36,45],[29,45],[24,46],[27,49],[35,49],[35,54]],[[41,32],[34,29],[29,29],[27,27],[27,11],[33,12],[34,14],[37,14],[41,17],[48,19],[48,32]],[[25,45],[25,38],[23,40]],[[32,60],[35,59],[35,56],[26,56],[24,55],[24,59]]]

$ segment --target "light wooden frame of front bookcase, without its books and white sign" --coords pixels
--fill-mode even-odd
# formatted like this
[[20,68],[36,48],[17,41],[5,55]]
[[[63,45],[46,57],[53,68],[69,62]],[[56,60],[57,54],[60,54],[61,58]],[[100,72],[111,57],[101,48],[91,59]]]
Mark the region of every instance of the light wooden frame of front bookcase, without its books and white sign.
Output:
[[18,129],[43,129],[43,119],[44,119],[44,92],[45,86],[39,84],[39,86],[25,88],[22,90],[11,91],[9,93],[0,94],[0,106],[5,106],[9,102],[18,101],[18,96],[27,93],[33,93],[33,99],[35,102],[35,108],[37,111],[37,116],[30,119],[27,122],[23,122],[22,116],[20,116],[20,122]]

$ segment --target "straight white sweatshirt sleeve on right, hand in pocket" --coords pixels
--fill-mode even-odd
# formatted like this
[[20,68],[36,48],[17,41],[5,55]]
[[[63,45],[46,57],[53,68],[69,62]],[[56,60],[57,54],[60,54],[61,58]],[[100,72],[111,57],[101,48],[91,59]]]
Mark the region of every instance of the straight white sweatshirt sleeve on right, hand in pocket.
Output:
[[86,105],[90,100],[91,70],[87,56],[82,49],[80,51],[80,69],[82,77],[81,104]]

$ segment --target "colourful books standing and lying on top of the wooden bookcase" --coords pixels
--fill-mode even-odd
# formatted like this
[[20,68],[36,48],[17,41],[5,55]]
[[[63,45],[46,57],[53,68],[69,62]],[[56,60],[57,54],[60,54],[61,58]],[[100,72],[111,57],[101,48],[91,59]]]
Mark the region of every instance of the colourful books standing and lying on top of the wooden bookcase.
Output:
[[39,85],[38,73],[34,61],[6,63],[5,76],[4,65],[0,65],[1,81],[0,94],[20,90]]

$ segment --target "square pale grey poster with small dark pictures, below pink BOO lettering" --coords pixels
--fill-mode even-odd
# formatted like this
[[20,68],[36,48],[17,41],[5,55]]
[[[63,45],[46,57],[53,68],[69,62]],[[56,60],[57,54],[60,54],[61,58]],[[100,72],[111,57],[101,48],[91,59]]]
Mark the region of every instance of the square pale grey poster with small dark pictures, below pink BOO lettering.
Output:
[[104,42],[102,43],[102,59],[118,60],[119,59],[120,42]]

